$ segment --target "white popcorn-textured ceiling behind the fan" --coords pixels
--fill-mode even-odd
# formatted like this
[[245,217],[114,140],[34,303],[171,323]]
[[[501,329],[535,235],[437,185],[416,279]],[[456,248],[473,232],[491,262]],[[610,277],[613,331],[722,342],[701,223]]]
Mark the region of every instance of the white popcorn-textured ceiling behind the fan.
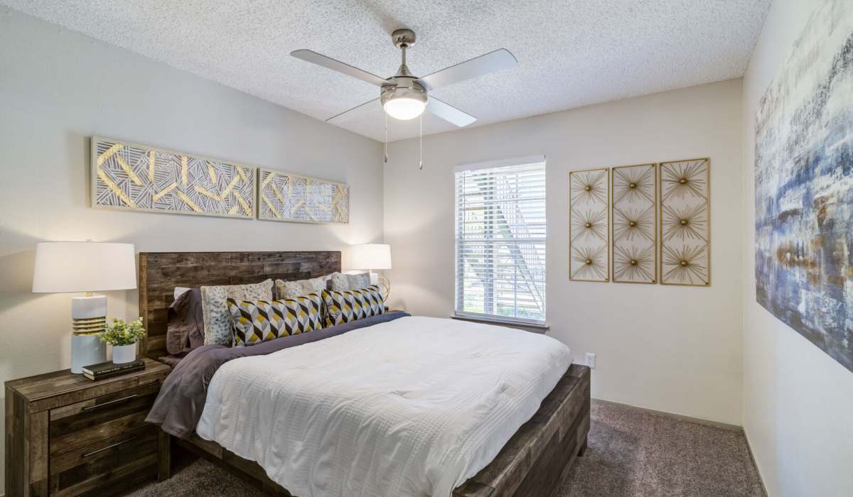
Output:
[[[399,65],[390,33],[418,36],[426,75],[498,48],[519,66],[435,90],[472,126],[740,78],[770,0],[0,0],[281,106],[325,120],[379,89],[289,55],[312,49],[382,77]],[[455,126],[427,117],[425,132]],[[342,127],[383,139],[379,106]],[[388,120],[389,140],[417,120]]]

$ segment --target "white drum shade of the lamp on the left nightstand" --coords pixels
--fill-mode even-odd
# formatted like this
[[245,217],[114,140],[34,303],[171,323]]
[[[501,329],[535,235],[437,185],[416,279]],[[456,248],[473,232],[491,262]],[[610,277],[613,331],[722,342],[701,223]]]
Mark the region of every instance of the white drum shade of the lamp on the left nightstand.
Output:
[[33,292],[107,292],[129,288],[136,288],[132,244],[47,241],[36,245]]

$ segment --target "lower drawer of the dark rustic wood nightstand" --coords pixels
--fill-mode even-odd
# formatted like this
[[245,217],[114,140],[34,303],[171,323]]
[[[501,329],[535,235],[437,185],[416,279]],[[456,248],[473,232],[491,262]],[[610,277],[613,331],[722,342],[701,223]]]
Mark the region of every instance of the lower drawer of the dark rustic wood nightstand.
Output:
[[79,495],[106,483],[157,474],[158,428],[143,426],[50,458],[50,495]]

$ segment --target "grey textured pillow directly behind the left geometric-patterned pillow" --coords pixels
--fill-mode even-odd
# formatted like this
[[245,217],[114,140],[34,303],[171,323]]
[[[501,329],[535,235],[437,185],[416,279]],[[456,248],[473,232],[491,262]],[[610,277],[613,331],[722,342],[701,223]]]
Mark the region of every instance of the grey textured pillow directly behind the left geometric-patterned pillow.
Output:
[[205,319],[205,345],[233,343],[227,300],[272,300],[272,280],[253,285],[201,287],[201,310]]

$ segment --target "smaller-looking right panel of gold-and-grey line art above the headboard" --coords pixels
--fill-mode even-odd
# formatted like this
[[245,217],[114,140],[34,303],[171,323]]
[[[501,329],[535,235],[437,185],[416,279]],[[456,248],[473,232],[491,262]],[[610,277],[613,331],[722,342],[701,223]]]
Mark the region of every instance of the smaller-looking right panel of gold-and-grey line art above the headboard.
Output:
[[350,187],[260,169],[258,218],[290,222],[350,222]]

